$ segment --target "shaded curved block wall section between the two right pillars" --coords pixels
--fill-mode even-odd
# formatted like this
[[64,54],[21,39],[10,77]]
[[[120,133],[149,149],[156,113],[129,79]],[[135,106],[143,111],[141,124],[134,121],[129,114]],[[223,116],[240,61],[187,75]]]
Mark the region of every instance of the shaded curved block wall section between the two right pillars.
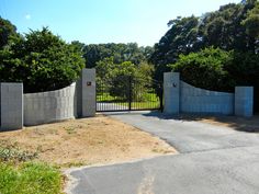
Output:
[[181,81],[182,113],[234,114],[234,94],[199,89]]

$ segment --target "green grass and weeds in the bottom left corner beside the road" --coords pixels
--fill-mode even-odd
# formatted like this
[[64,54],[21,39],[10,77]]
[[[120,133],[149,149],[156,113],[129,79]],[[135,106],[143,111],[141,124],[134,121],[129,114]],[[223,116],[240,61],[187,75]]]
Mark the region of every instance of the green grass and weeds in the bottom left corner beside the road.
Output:
[[0,194],[60,194],[63,176],[58,168],[33,162],[35,158],[37,152],[1,141]]

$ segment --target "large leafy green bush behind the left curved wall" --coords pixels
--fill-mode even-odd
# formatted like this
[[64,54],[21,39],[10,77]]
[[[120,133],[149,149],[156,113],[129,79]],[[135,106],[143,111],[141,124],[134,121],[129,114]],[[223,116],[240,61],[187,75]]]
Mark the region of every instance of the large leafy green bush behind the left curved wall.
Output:
[[81,55],[46,27],[31,31],[0,49],[0,81],[23,82],[25,92],[60,89],[77,80]]

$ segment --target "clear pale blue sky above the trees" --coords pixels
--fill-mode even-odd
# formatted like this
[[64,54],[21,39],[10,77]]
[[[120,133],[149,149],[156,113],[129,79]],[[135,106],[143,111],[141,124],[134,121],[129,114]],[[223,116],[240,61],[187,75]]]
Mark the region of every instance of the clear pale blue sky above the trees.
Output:
[[200,16],[240,0],[0,0],[0,15],[20,33],[43,26],[66,42],[153,46],[177,16]]

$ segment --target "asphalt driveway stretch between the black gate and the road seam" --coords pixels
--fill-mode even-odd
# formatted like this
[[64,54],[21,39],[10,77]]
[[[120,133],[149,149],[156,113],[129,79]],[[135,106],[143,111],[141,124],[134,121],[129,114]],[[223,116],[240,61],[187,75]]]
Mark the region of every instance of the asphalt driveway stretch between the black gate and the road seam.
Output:
[[258,134],[236,132],[205,123],[172,119],[172,116],[165,116],[159,112],[108,114],[165,139],[180,152],[259,145]]

